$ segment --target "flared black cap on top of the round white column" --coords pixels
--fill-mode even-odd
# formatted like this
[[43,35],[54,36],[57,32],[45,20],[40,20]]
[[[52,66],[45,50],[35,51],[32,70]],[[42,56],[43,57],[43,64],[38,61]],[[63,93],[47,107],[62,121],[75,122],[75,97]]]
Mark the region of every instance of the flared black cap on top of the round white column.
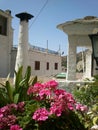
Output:
[[22,12],[22,13],[16,14],[15,16],[20,18],[20,21],[25,21],[26,20],[27,22],[28,22],[29,19],[34,17],[33,15],[31,15],[31,14],[29,14],[27,12]]

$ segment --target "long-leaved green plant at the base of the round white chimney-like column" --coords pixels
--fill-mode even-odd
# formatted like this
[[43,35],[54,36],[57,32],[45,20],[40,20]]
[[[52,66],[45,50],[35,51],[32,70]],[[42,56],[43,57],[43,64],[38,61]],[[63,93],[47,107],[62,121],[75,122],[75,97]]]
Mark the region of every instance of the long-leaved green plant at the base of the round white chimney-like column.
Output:
[[27,95],[27,90],[30,85],[37,82],[37,76],[31,77],[31,67],[28,66],[24,77],[22,76],[23,67],[20,67],[18,72],[15,72],[15,84],[11,84],[9,80],[0,87],[0,107],[9,103],[18,103],[30,99]]

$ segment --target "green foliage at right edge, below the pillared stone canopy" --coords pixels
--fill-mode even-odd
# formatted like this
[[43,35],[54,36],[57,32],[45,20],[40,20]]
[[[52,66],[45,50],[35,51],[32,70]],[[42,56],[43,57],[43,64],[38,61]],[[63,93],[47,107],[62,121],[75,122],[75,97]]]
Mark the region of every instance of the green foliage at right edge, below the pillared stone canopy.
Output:
[[92,83],[77,86],[73,94],[79,102],[91,107],[98,102],[98,80],[95,79]]

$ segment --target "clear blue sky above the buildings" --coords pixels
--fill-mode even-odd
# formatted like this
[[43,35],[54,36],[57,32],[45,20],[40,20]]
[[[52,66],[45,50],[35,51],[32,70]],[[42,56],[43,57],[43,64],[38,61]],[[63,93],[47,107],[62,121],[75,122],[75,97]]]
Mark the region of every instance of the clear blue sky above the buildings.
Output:
[[[98,0],[0,0],[1,10],[11,10],[13,16],[14,44],[18,45],[19,19],[15,16],[28,12],[34,16],[29,21],[29,43],[58,51],[68,51],[68,36],[57,25],[85,16],[98,17]],[[80,48],[81,51],[81,48]]]

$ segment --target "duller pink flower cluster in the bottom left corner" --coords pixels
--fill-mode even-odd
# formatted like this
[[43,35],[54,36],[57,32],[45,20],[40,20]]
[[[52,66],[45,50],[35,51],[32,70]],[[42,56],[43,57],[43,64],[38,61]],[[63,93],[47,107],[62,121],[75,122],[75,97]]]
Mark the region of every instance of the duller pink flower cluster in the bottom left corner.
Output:
[[[20,102],[18,104],[8,104],[2,108],[0,108],[0,130],[8,129],[13,126],[17,117],[15,113],[22,112],[24,108],[24,102]],[[11,130],[22,130],[15,128],[16,126],[11,127]]]

